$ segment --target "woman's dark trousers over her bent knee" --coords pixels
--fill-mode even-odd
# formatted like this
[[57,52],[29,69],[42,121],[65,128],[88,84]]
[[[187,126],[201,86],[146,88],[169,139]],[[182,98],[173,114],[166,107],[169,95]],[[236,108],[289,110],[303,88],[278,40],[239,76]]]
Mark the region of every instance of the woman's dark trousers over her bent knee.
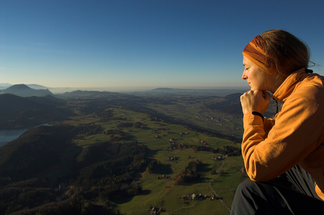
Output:
[[324,214],[314,184],[299,165],[270,181],[248,179],[237,187],[231,214]]

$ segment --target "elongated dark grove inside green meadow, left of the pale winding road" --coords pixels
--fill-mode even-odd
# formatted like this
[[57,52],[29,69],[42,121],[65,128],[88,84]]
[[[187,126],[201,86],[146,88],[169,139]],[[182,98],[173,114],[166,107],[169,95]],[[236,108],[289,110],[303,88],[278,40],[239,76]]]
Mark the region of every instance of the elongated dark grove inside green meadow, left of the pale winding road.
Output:
[[189,162],[188,166],[185,169],[181,170],[180,174],[175,177],[174,185],[189,183],[200,179],[198,169],[201,166],[202,162],[198,159],[197,161]]

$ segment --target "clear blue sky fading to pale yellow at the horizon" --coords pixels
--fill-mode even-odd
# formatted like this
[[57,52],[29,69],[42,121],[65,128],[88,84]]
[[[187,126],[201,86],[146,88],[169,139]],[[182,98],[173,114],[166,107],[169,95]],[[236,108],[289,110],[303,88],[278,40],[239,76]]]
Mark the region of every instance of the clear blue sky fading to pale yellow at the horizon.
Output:
[[323,20],[322,0],[0,0],[0,83],[247,88],[242,50],[266,30],[288,30],[324,66]]

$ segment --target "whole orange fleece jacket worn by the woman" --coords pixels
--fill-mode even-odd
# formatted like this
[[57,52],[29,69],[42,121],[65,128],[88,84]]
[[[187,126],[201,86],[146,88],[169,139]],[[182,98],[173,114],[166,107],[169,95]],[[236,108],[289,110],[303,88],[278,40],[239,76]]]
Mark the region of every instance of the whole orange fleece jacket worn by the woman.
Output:
[[245,113],[242,155],[251,180],[267,181],[299,164],[324,200],[324,77],[305,69],[288,76],[272,97],[283,102],[274,119]]

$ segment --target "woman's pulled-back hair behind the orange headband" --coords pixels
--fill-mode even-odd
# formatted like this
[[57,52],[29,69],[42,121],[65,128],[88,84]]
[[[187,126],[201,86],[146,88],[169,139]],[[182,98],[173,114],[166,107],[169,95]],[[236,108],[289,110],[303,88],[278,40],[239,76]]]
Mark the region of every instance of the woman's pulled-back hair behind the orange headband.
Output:
[[291,33],[274,29],[262,33],[261,38],[266,45],[266,61],[283,77],[289,76],[296,70],[307,68],[310,49],[303,41]]

